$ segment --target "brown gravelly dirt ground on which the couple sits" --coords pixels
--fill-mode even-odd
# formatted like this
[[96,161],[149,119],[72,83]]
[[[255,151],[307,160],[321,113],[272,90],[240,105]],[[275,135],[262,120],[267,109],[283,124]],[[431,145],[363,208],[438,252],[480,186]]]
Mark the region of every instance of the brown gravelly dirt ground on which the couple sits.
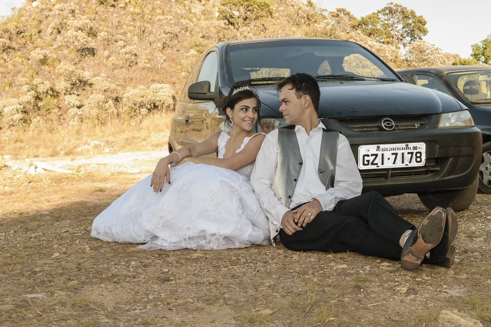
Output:
[[[281,244],[146,251],[91,238],[93,219],[153,164],[0,165],[0,326],[439,326],[443,310],[491,326],[489,195],[458,214],[451,269]],[[427,215],[416,195],[389,201],[415,224]]]

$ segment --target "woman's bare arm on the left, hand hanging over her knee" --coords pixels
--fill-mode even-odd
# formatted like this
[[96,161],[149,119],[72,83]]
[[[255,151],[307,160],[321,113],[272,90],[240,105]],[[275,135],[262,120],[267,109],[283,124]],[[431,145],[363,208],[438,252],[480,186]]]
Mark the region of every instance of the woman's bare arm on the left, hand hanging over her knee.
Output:
[[168,156],[161,158],[159,162],[157,162],[157,166],[155,166],[155,170],[153,171],[150,180],[150,187],[153,188],[153,192],[162,192],[165,180],[170,184],[169,165],[177,164],[177,162],[189,156],[200,156],[216,152],[219,135],[220,132],[213,133],[203,142],[187,145],[170,153]]

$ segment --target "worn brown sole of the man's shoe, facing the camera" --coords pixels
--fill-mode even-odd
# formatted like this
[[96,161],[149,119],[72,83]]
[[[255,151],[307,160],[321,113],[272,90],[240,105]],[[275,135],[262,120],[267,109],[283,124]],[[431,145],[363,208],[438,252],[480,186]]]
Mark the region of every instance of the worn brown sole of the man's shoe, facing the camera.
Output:
[[445,210],[436,207],[417,228],[418,239],[400,256],[400,264],[407,270],[414,270],[425,259],[425,254],[441,241],[445,226]]

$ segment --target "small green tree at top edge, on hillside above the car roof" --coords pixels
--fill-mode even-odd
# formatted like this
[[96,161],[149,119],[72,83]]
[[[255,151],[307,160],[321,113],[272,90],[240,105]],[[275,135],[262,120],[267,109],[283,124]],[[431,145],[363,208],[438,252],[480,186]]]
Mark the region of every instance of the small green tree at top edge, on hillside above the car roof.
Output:
[[222,0],[218,15],[237,29],[273,16],[273,8],[266,0]]

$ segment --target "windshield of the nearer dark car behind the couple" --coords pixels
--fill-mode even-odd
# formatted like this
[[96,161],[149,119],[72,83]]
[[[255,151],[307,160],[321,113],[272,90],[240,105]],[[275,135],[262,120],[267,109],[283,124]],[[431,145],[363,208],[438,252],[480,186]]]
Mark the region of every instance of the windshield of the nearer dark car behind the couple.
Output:
[[[319,80],[399,81],[379,59],[360,45],[337,40],[273,40],[227,46],[229,76],[234,83],[270,84],[295,73]],[[361,78],[349,78],[360,76]]]

